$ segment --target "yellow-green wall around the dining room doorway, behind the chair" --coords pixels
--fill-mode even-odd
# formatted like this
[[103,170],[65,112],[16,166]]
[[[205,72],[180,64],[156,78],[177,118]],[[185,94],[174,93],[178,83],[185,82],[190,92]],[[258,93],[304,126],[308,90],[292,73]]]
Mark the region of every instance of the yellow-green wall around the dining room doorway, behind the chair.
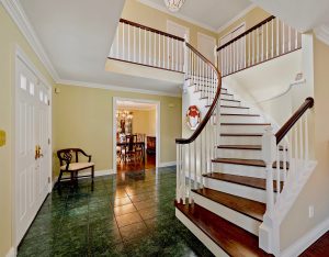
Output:
[[[113,168],[113,97],[160,101],[160,164],[175,160],[174,139],[181,136],[181,98],[57,85],[54,94],[54,152],[81,147],[93,156],[97,170]],[[169,104],[173,104],[172,108]],[[58,172],[57,158],[55,174]]]

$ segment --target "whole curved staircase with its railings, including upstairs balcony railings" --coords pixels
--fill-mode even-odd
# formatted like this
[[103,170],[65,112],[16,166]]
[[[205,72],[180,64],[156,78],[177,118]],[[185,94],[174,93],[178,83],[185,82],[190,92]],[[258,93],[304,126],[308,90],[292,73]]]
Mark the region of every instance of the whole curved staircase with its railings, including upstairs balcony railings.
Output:
[[314,99],[274,133],[258,109],[222,87],[223,76],[300,43],[299,33],[271,16],[220,46],[212,64],[188,37],[121,20],[109,58],[183,74],[183,92],[204,114],[189,138],[175,139],[174,204],[177,217],[215,256],[280,256],[280,225],[315,169],[308,146]]

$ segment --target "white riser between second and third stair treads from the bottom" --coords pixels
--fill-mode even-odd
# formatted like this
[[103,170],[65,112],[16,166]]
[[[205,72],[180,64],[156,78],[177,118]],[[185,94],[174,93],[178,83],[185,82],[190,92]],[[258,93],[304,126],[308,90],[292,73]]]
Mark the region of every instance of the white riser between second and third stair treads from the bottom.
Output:
[[266,191],[262,189],[230,183],[218,179],[204,178],[205,187],[220,192],[247,198],[253,201],[266,203]]

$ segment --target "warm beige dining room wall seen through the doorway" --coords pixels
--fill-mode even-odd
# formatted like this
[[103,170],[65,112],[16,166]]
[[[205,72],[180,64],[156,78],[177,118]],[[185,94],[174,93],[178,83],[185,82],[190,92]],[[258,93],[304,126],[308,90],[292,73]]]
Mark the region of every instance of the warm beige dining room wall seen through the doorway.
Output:
[[133,112],[133,133],[156,135],[156,110],[129,110]]

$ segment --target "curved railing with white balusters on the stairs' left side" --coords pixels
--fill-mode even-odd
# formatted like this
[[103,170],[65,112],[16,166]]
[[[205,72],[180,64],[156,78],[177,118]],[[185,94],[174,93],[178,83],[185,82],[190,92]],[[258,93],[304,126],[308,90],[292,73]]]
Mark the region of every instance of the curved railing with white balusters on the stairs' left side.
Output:
[[[185,44],[185,79],[207,99],[209,109],[189,138],[177,143],[177,201],[192,202],[192,189],[204,187],[203,175],[212,171],[218,143],[216,120],[219,113],[222,76],[219,70],[189,43]],[[217,115],[216,115],[217,114]]]

